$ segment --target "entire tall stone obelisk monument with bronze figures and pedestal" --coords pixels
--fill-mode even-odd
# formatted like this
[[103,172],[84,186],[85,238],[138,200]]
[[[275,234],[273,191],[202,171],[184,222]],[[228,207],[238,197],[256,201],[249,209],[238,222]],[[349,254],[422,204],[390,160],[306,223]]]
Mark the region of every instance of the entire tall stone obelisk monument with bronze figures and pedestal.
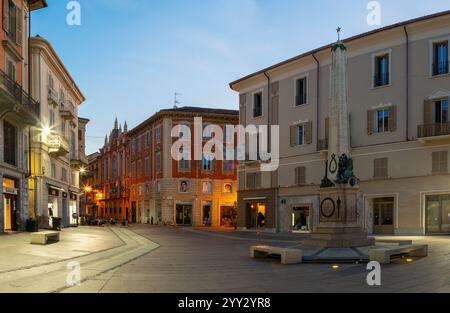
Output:
[[[338,33],[340,28],[338,28]],[[338,39],[331,48],[330,128],[326,177],[320,189],[319,226],[309,244],[328,248],[370,246],[358,208],[358,179],[350,156],[347,48]]]

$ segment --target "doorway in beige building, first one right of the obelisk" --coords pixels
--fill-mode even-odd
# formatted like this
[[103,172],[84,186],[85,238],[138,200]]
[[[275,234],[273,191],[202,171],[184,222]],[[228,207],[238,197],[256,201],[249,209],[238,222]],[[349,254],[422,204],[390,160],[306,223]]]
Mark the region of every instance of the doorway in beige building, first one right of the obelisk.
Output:
[[373,199],[373,234],[394,235],[394,207],[395,198]]

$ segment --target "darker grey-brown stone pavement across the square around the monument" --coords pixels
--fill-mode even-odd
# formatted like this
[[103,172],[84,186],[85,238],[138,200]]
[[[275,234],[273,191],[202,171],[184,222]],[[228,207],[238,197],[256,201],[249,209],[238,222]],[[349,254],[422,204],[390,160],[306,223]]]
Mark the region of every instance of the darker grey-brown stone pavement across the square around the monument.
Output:
[[[134,226],[160,245],[96,281],[69,292],[450,292],[450,237],[416,237],[430,255],[382,266],[382,286],[369,287],[363,264],[283,266],[252,260],[255,243],[293,247],[302,236]],[[279,238],[279,241],[277,241]]]

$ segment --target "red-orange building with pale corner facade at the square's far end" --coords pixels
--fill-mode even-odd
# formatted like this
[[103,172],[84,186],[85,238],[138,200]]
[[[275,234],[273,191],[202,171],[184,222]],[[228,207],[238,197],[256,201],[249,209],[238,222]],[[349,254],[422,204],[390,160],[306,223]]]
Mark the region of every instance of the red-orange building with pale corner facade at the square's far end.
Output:
[[116,122],[98,161],[104,190],[101,217],[132,223],[233,225],[237,162],[172,158],[172,128],[184,125],[193,134],[195,117],[202,117],[204,126],[224,127],[235,126],[239,114],[184,107],[162,110],[130,131],[122,132]]

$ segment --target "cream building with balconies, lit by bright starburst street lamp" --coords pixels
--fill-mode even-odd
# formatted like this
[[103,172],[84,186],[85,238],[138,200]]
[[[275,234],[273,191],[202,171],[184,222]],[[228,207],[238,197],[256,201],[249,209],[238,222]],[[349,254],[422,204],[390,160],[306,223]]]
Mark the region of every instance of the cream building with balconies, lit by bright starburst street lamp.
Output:
[[56,217],[67,227],[77,224],[79,175],[87,166],[89,121],[78,118],[85,98],[47,40],[33,37],[31,54],[32,95],[41,105],[41,124],[32,132],[30,209],[40,227],[51,226]]

